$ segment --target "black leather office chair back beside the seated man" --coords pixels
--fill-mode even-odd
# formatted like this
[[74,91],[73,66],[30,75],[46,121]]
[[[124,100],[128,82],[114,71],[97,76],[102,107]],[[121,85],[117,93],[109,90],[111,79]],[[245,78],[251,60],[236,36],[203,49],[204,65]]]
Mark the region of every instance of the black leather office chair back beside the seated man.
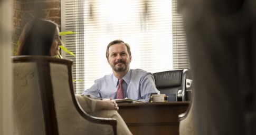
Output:
[[186,91],[186,79],[191,79],[188,69],[156,72],[153,75],[161,94],[177,94],[178,90],[182,90],[182,101],[190,100],[190,93]]

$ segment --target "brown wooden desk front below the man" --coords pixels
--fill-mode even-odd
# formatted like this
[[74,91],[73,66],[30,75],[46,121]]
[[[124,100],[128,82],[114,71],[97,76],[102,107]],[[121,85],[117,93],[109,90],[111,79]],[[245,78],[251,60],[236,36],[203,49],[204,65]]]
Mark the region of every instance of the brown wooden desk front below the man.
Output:
[[119,114],[130,131],[136,134],[178,133],[178,114],[184,113],[189,102],[119,103]]

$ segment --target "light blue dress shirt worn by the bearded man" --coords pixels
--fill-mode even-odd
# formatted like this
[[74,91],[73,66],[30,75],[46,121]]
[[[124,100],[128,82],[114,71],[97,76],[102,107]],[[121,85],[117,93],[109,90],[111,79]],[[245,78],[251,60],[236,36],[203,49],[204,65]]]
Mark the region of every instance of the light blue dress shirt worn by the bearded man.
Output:
[[[124,89],[125,98],[147,102],[150,93],[159,93],[156,89],[154,76],[150,72],[141,69],[130,69],[122,79],[124,79],[122,88]],[[91,88],[85,90],[82,94],[91,94],[102,99],[116,99],[118,84],[118,78],[115,75],[105,75],[103,78],[95,80]]]

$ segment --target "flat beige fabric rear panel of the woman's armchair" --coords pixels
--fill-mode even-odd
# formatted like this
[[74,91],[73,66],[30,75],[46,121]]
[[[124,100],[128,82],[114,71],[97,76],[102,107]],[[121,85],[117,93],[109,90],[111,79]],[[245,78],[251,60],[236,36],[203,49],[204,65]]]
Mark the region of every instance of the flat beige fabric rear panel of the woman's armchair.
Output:
[[13,64],[14,134],[45,134],[35,62]]

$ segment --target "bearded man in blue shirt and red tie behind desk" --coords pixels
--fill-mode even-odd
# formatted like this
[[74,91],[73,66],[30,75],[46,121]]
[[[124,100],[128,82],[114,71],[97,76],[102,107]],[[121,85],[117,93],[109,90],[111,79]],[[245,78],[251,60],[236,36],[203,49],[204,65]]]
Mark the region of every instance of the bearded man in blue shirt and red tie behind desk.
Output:
[[[159,93],[153,74],[141,69],[130,69],[131,51],[129,44],[122,40],[110,42],[107,46],[106,57],[113,73],[94,81],[91,88],[83,92],[84,95],[90,94],[103,99],[129,98],[147,102],[150,93]],[[120,86],[118,86],[119,80],[122,80]]]

